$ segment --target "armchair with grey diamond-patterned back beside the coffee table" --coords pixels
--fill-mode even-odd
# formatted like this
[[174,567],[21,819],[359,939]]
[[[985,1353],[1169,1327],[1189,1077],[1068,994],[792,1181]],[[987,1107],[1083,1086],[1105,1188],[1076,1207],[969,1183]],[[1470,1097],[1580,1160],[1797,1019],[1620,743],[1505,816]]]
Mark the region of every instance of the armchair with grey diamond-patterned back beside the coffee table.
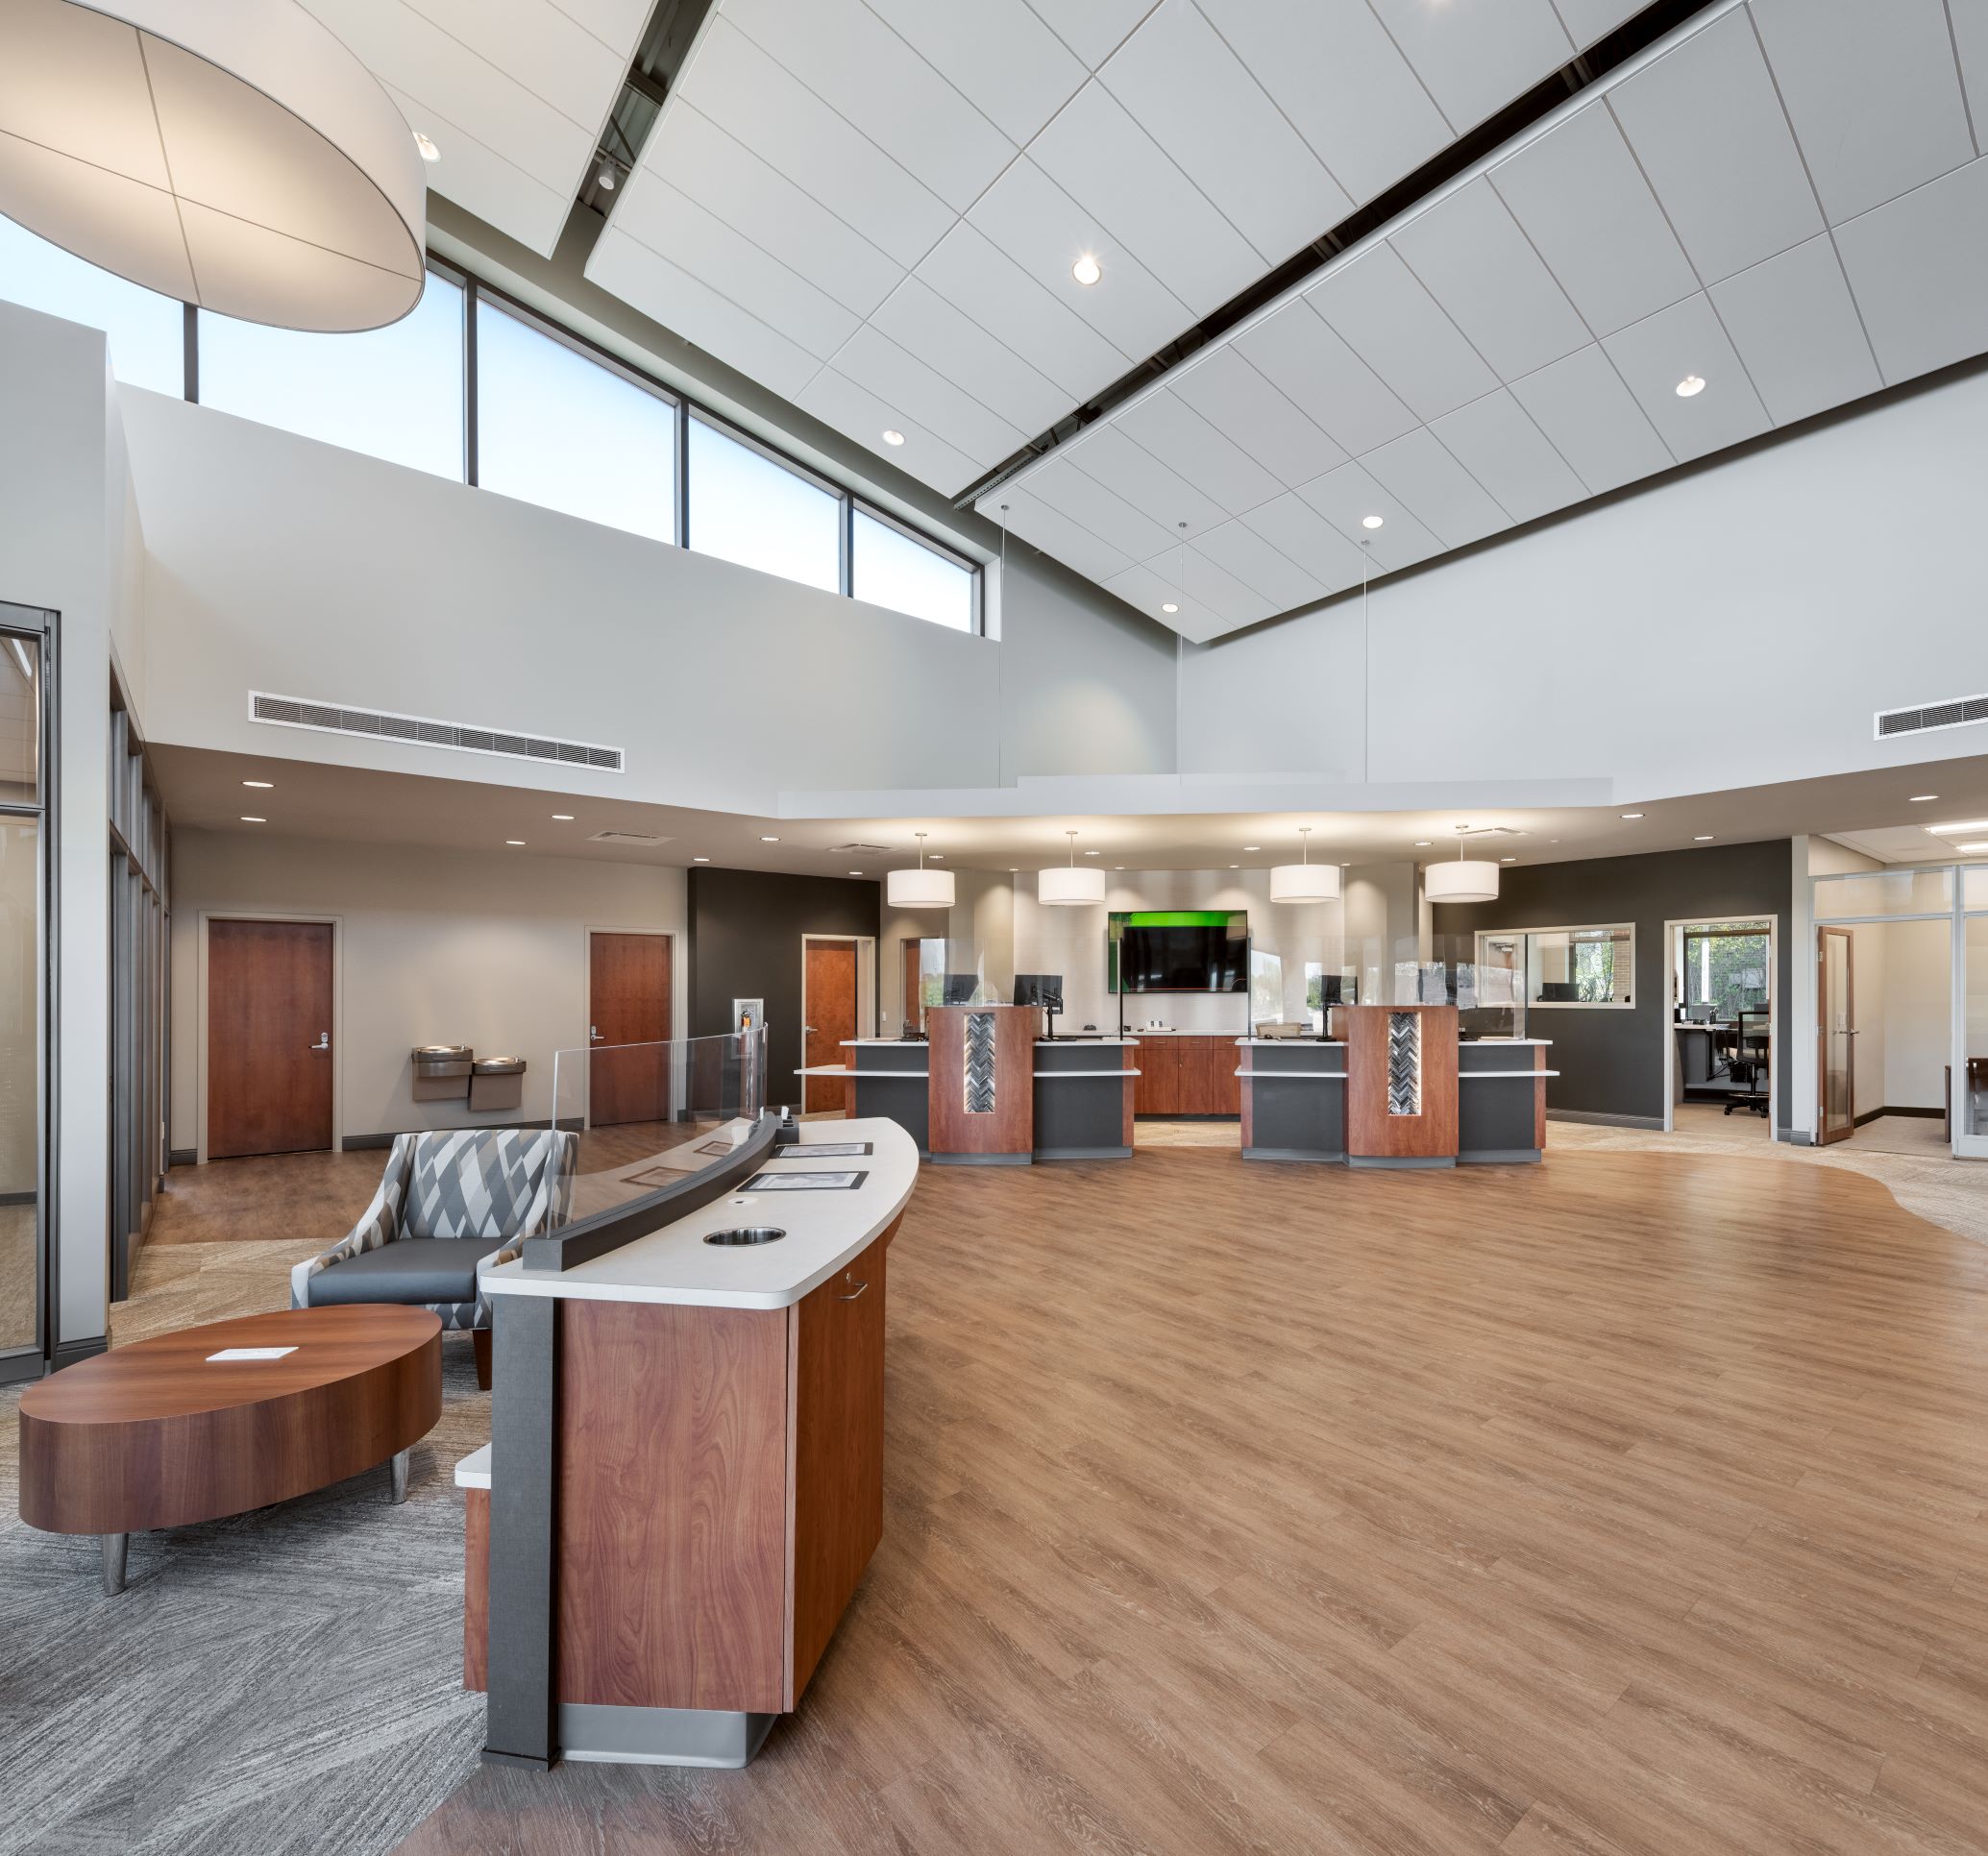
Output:
[[290,1308],[404,1302],[475,1335],[477,1385],[491,1383],[491,1302],[483,1274],[525,1238],[565,1224],[579,1135],[461,1129],[396,1135],[386,1176],[346,1238],[290,1272]]

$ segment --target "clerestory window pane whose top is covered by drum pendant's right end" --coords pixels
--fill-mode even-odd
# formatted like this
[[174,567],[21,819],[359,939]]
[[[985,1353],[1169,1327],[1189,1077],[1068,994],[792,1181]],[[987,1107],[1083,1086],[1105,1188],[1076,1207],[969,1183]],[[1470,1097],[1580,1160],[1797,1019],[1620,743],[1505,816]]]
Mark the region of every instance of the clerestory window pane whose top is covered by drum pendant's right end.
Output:
[[461,286],[429,272],[412,316],[358,336],[201,310],[201,405],[461,481]]

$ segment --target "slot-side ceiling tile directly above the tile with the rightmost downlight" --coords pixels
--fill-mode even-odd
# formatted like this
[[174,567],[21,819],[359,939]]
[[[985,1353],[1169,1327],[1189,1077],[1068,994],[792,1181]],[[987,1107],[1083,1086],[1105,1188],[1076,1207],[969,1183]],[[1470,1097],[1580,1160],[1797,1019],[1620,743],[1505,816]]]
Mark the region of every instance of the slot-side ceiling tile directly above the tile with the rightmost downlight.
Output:
[[1491,181],[1598,336],[1698,288],[1650,185],[1602,103],[1576,109]]

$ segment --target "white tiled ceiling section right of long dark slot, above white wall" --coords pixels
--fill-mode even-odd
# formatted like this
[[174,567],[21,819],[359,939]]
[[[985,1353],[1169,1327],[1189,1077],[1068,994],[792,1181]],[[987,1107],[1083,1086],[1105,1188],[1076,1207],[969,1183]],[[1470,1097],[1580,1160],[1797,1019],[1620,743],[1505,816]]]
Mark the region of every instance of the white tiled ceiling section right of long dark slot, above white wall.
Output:
[[1988,350],[1946,18],[1710,6],[976,507],[1199,642]]

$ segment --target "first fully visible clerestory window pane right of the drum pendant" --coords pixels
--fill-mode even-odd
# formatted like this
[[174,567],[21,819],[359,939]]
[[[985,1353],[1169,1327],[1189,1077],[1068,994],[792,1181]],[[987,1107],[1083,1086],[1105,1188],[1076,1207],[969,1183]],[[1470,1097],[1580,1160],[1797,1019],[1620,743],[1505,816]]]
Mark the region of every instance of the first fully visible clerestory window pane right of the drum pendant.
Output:
[[477,483],[676,541],[676,401],[477,298]]

